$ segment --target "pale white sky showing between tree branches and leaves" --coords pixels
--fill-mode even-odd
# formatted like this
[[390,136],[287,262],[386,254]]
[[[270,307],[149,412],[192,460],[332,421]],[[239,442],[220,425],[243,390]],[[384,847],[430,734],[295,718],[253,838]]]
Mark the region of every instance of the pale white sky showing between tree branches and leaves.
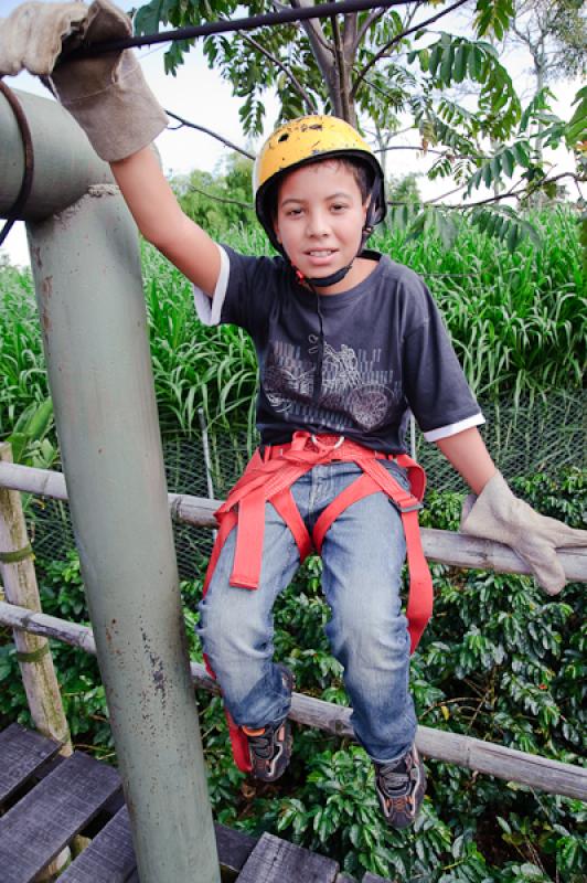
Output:
[[[19,6],[18,0],[0,0],[0,14],[2,17],[8,15],[17,6]],[[121,6],[125,4],[121,3]],[[458,20],[452,17],[450,19],[450,30],[452,32],[460,31],[461,22],[465,20],[463,15]],[[439,22],[439,26],[449,30],[447,21]],[[225,83],[218,73],[207,68],[201,50],[195,47],[191,51],[184,65],[178,70],[175,77],[164,74],[164,45],[139,51],[147,81],[163,107],[194,123],[207,126],[236,145],[245,147],[246,139],[241,130],[238,120],[239,99],[232,96],[230,84]],[[505,63],[515,77],[516,88],[520,89],[522,87],[530,94],[532,81],[526,73],[530,67],[529,56],[521,52],[510,53]],[[11,88],[32,92],[50,98],[47,91],[41,83],[29,74],[7,77],[7,85]],[[578,87],[578,83],[568,82],[555,83],[552,86],[557,96],[557,103],[554,106],[555,113],[563,118],[568,118],[570,102]],[[274,96],[267,96],[266,110],[266,135],[268,135],[277,113],[277,102]],[[399,142],[417,145],[417,132],[413,131],[403,136]],[[228,152],[227,148],[223,147],[220,141],[186,128],[164,131],[157,140],[157,145],[162,157],[164,170],[170,173],[189,172],[194,168],[212,171],[222,157]],[[410,171],[425,172],[431,164],[430,158],[423,157],[416,151],[394,151],[391,156],[393,157],[393,164],[389,159],[388,171],[395,174],[406,174]],[[555,159],[558,163],[558,169],[572,168],[572,159],[565,152],[559,151]],[[420,180],[420,192],[425,198],[438,195],[450,189],[447,180],[437,184],[427,184],[424,179]],[[23,224],[14,225],[3,248],[0,249],[0,254],[2,253],[8,254],[12,263],[22,265],[29,263]]]

